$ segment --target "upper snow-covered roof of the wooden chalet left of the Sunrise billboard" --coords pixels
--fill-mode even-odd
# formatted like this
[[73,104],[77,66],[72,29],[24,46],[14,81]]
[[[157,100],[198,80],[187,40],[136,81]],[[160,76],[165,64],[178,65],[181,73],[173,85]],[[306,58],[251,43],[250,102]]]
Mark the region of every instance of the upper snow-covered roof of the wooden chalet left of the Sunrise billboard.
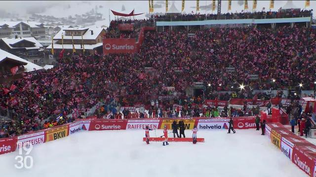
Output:
[[[59,40],[61,39],[61,35],[62,33],[64,34],[64,39],[72,39],[71,35],[65,35],[66,31],[65,30],[83,30],[83,29],[87,29],[87,28],[68,28],[68,29],[63,29],[60,30],[56,33],[56,35],[54,36],[55,40]],[[91,34],[91,30],[93,30],[93,34]],[[101,33],[102,30],[105,30],[104,28],[88,28],[87,31],[82,35],[83,39],[96,39],[99,34]],[[74,39],[81,39],[81,36],[75,36],[74,35]]]

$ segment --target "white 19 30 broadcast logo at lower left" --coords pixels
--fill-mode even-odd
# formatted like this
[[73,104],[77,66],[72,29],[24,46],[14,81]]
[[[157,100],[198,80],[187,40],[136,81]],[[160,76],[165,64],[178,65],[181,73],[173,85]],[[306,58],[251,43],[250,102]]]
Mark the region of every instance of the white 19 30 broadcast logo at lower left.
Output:
[[[22,144],[18,142],[19,155],[15,156],[17,164],[14,164],[14,167],[17,169],[31,169],[33,167],[33,157],[29,155],[33,149],[33,145],[29,142]],[[25,156],[23,156],[23,150],[25,151]]]

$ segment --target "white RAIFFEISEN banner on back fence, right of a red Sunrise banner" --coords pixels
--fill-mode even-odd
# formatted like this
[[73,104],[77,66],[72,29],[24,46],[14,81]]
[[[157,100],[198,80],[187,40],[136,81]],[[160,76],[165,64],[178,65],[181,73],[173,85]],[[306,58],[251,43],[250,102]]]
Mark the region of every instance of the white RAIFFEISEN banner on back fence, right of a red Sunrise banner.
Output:
[[159,122],[159,119],[128,120],[126,129],[145,129],[146,126],[149,126],[150,129],[158,129]]

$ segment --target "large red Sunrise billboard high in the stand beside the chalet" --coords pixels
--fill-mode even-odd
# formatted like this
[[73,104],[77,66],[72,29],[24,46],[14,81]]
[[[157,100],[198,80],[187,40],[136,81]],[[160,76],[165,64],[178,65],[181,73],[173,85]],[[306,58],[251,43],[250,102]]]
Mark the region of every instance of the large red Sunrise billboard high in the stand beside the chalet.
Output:
[[103,39],[103,54],[126,54],[137,52],[136,39]]

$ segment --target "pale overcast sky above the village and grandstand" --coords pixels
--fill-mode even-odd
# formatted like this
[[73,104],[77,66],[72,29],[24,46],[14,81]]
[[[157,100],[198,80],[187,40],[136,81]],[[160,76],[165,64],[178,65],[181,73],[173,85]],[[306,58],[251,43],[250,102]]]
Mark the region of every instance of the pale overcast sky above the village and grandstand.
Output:
[[[233,0],[232,1],[232,11],[240,12],[244,5],[243,0]],[[272,10],[277,10],[284,6],[287,0],[276,0],[275,8]],[[178,10],[181,10],[181,0],[169,0],[169,7],[174,3]],[[186,0],[185,1],[185,12],[191,13],[196,12],[196,0]],[[210,5],[212,0],[200,0],[199,5],[205,6]],[[216,0],[217,3],[217,0]],[[263,7],[269,9],[269,0],[258,0],[257,11],[261,11]],[[165,0],[154,0],[155,12],[165,12]],[[293,4],[299,8],[305,8],[305,0],[293,0]],[[59,1],[59,0],[12,0],[12,1],[0,1],[0,19],[3,19],[3,12],[10,12],[19,14],[19,16],[24,17],[27,20],[30,12],[38,13],[41,15],[53,15],[55,17],[68,17],[69,15],[80,15],[87,11],[90,11],[95,6],[102,6],[98,8],[98,12],[103,14],[103,18],[108,22],[109,20],[109,9],[113,9],[123,13],[129,13],[131,10],[135,9],[136,13],[148,13],[148,0],[106,0],[106,1]],[[122,5],[125,6],[125,11],[121,11]],[[228,11],[228,1],[222,0],[222,13]],[[252,0],[248,0],[249,10],[252,10]],[[70,7],[70,8],[69,8]],[[316,9],[316,1],[311,0],[311,6],[308,9]],[[200,8],[200,13],[211,13],[211,9],[204,10]],[[214,12],[215,13],[215,12]],[[316,13],[316,12],[315,12]],[[111,19],[114,19],[111,13]],[[315,14],[314,14],[315,16]],[[139,18],[145,18],[145,15],[139,16]]]

